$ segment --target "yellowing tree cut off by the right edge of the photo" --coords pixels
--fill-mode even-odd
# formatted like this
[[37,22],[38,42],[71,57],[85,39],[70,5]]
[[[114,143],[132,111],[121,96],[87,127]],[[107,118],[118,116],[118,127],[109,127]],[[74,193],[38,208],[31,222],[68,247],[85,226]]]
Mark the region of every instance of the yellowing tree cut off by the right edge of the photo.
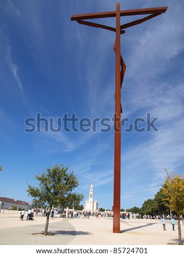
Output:
[[175,172],[169,174],[164,168],[167,177],[163,185],[163,193],[168,202],[168,207],[171,211],[175,211],[177,215],[179,245],[183,245],[181,239],[180,216],[184,213],[184,174],[177,175]]

